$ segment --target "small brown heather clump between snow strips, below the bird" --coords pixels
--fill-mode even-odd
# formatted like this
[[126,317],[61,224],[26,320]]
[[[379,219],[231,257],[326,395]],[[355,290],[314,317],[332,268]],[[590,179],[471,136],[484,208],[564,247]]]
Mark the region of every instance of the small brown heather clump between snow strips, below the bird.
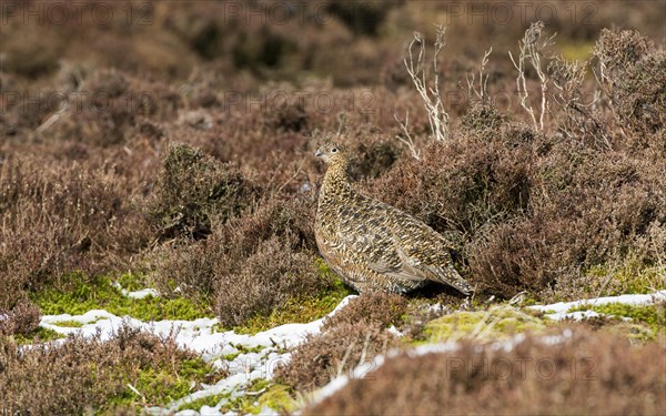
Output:
[[376,322],[342,322],[310,336],[292,353],[286,365],[276,368],[275,378],[299,392],[311,392],[385,353],[395,341]]

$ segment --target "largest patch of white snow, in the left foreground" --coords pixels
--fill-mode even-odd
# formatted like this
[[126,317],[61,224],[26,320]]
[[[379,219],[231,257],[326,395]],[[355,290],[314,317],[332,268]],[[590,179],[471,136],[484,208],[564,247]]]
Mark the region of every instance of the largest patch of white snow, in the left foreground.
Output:
[[[149,291],[139,292],[148,293]],[[356,296],[350,295],[342,300],[329,316],[335,314],[354,297]],[[210,362],[214,367],[226,368],[229,377],[219,383],[204,386],[203,389],[175,400],[165,408],[153,407],[147,409],[149,414],[161,415],[172,414],[181,405],[205,396],[220,393],[229,393],[231,397],[234,394],[241,395],[243,388],[252,381],[272,378],[276,366],[290,359],[291,353],[289,353],[289,349],[302,343],[307,335],[319,333],[323,319],[320,318],[306,324],[284,324],[255,335],[248,335],[236,334],[233,331],[215,331],[215,326],[219,323],[216,318],[142,322],[130,316],[117,316],[103,310],[94,310],[82,315],[44,315],[41,318],[40,325],[63,335],[81,334],[85,337],[91,337],[99,332],[102,339],[109,339],[123,325],[142,328],[158,336],[173,335],[175,342],[181,347],[199,353],[203,359]],[[58,323],[63,321],[78,322],[82,326],[59,326]],[[243,351],[256,349],[256,352],[239,354],[231,361],[224,359],[224,356],[238,354],[240,352],[239,348]],[[223,403],[218,404],[215,407],[202,406],[199,413],[183,410],[178,414],[220,415],[222,405]],[[264,410],[269,412],[268,408]],[[262,412],[262,414],[264,413]]]

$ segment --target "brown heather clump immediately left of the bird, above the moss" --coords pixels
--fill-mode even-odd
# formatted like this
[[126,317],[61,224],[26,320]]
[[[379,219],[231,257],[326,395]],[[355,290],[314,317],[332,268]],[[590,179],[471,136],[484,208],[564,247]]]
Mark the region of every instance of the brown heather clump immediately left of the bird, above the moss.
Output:
[[270,197],[252,213],[215,222],[204,241],[158,251],[154,284],[167,296],[175,287],[180,295],[212,294],[224,326],[269,315],[332,284],[320,275],[313,223],[311,199]]

